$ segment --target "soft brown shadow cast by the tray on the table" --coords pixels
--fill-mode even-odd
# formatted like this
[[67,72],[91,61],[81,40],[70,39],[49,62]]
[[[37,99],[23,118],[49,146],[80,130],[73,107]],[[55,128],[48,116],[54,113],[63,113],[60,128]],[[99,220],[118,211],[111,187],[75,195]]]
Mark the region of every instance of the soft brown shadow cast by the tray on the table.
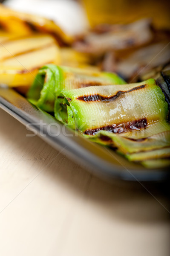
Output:
[[[133,183],[115,180],[113,184],[109,184],[73,163],[65,155],[60,154],[60,157],[52,160],[58,151],[37,136],[26,137],[26,128],[2,110],[0,110],[0,118],[5,124],[4,127],[7,127],[4,129],[1,122],[0,136],[5,137],[6,143],[12,142],[20,155],[26,151],[27,160],[35,159],[36,161],[40,155],[40,149],[45,148],[41,152],[43,175],[51,178],[52,182],[62,183],[70,193],[83,198],[88,204],[95,203],[104,215],[110,217],[113,215],[114,218],[128,221],[169,222],[168,183]],[[18,140],[18,137],[22,139]],[[37,153],[33,153],[29,143],[33,144]],[[37,161],[37,166],[42,165],[42,161]]]

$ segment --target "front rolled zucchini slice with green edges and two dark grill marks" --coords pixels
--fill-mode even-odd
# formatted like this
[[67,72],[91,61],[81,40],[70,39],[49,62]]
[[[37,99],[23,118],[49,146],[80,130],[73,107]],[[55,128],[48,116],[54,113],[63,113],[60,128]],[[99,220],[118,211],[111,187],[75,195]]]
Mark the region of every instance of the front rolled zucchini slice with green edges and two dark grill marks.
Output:
[[[167,118],[167,103],[154,79],[121,87],[63,90],[62,94],[60,104],[55,104],[55,113],[63,123],[74,123],[76,129],[87,135],[95,135],[100,130],[118,134],[141,131]],[[63,119],[61,104],[67,107]]]

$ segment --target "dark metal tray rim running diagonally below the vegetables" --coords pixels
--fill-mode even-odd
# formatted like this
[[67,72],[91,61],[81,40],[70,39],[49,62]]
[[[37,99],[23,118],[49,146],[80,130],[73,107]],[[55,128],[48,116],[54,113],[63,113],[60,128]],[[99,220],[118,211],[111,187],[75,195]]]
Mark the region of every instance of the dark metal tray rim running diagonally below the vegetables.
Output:
[[84,139],[77,132],[63,126],[50,114],[37,109],[13,89],[0,87],[0,108],[29,126],[54,148],[64,148],[73,160],[83,166],[86,165],[88,170],[98,176],[109,180],[118,178],[133,181],[161,181],[170,177],[170,172],[166,168],[146,169],[128,162],[115,151]]

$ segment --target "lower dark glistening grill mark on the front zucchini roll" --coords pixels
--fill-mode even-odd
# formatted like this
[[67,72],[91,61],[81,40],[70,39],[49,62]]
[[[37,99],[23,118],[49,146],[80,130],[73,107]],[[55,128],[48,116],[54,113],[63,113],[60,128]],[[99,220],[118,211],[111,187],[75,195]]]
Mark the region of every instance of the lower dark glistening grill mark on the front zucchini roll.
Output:
[[86,131],[84,131],[84,134],[95,135],[98,131],[101,131],[101,130],[120,134],[122,132],[127,132],[128,130],[140,131],[146,127],[147,127],[147,119],[142,118],[134,121],[128,121],[125,123],[112,124],[112,125],[102,126],[99,128],[87,129]]

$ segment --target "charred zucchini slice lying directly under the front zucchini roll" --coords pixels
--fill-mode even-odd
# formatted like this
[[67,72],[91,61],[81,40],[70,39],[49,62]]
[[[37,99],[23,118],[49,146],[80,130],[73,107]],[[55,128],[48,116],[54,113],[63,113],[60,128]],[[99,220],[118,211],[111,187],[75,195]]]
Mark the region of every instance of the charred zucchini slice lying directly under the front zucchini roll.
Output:
[[[108,131],[99,131],[98,134],[91,137],[91,140],[101,145],[112,146],[118,148],[123,154],[136,153],[138,151],[151,151],[154,149],[168,147],[170,145],[170,126],[167,122],[159,122],[141,133],[129,134],[111,134]],[[157,130],[159,131],[156,134]]]

